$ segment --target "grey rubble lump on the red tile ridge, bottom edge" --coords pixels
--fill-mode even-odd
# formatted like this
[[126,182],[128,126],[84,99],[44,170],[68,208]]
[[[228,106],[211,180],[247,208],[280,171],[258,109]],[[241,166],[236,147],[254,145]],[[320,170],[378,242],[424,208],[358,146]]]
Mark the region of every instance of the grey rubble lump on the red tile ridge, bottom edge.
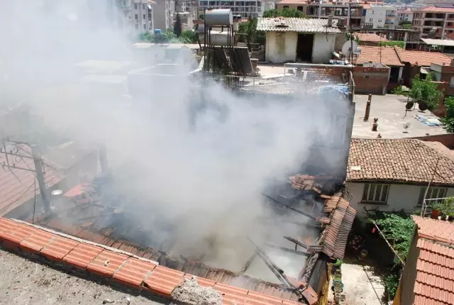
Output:
[[201,287],[194,277],[172,292],[172,301],[184,305],[222,305],[222,296],[212,287]]

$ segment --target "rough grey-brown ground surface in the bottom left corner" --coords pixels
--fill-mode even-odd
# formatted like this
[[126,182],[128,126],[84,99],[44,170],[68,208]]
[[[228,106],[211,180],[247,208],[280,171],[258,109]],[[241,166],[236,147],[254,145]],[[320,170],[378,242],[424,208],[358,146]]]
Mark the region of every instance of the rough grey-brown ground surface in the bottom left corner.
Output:
[[[131,292],[132,293],[132,292]],[[166,304],[68,275],[0,249],[0,304]]]

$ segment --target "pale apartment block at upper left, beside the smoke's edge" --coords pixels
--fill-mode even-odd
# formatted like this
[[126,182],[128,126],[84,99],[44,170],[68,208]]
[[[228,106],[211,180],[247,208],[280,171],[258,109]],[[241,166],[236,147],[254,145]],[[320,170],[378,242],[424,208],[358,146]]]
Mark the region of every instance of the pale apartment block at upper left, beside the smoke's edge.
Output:
[[118,24],[123,28],[134,28],[138,32],[153,30],[153,4],[151,0],[117,1]]

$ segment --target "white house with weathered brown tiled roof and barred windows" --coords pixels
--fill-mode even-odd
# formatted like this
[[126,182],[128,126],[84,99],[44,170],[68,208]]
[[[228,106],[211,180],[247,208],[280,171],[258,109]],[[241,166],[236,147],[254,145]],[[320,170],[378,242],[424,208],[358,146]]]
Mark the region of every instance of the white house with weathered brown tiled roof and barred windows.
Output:
[[412,213],[421,209],[429,182],[426,199],[454,196],[452,154],[436,142],[352,139],[346,179],[350,205],[364,221],[366,210]]

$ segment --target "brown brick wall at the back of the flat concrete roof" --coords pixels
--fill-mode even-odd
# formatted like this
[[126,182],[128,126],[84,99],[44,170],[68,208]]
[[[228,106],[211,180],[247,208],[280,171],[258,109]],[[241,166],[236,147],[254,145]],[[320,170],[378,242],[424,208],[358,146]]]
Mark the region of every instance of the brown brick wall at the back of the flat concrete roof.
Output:
[[385,94],[389,67],[354,67],[355,93]]

